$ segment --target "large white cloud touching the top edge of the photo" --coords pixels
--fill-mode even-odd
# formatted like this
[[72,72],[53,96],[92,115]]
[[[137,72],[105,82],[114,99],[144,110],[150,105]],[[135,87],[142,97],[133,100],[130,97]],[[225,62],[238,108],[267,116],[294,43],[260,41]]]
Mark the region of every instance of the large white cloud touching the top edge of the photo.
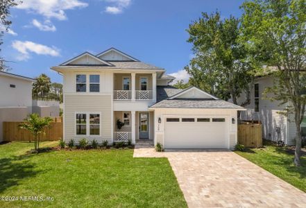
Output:
[[16,8],[40,14],[47,19],[67,19],[65,10],[84,8],[88,3],[79,0],[25,0]]

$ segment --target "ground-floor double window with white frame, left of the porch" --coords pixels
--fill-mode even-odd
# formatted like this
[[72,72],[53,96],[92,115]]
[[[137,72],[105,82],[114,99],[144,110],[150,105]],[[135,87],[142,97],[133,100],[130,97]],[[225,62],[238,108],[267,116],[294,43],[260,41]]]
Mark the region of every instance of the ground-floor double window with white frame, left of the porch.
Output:
[[76,135],[99,136],[101,129],[101,114],[76,113]]

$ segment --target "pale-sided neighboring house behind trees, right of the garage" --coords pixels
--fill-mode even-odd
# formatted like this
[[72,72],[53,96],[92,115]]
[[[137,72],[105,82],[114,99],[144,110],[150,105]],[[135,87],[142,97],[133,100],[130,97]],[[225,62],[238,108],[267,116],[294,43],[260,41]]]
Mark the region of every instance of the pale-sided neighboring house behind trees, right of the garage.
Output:
[[[241,112],[241,119],[261,121],[262,137],[264,139],[284,141],[284,144],[294,145],[296,136],[294,116],[284,114],[284,109],[288,104],[280,105],[279,101],[270,101],[262,96],[264,89],[272,87],[273,84],[273,76],[255,78],[250,94],[250,105],[246,106],[247,110],[245,112]],[[243,95],[239,98],[239,101],[243,101],[245,98],[245,95]],[[301,124],[301,130],[302,137],[306,137],[306,116]]]

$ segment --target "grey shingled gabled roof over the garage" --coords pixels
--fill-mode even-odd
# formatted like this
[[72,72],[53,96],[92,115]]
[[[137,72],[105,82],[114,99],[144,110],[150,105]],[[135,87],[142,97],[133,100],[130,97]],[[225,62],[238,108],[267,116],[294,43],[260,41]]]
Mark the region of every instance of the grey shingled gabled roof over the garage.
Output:
[[[203,98],[188,97],[190,90],[196,90],[196,92],[205,95]],[[171,95],[172,94],[172,95]],[[198,94],[198,95],[201,95]],[[185,96],[182,96],[185,95]],[[182,96],[182,97],[180,97]],[[207,92],[196,87],[189,87],[187,89],[176,89],[172,86],[158,87],[157,101],[154,105],[151,105],[151,109],[154,108],[210,108],[210,109],[233,109],[244,110],[244,107],[223,101]]]

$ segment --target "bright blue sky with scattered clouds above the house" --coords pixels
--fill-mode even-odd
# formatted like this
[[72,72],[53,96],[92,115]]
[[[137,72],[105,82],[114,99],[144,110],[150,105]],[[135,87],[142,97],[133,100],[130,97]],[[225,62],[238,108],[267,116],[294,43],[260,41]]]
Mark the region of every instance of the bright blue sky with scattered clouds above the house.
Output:
[[35,77],[74,56],[115,47],[179,78],[192,57],[187,43],[189,24],[201,12],[223,17],[241,14],[243,1],[230,0],[23,0],[11,10],[12,26],[1,55],[11,73]]

